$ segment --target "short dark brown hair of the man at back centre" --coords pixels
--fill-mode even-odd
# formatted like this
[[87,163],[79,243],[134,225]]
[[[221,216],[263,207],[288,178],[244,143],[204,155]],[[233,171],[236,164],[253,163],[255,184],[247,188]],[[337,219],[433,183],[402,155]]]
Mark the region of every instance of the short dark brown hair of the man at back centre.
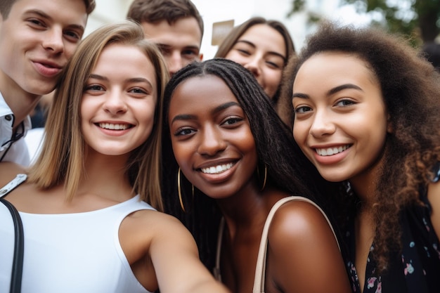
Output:
[[134,0],[130,5],[127,18],[139,23],[157,23],[167,20],[169,25],[181,18],[195,18],[203,37],[202,16],[190,0]]

